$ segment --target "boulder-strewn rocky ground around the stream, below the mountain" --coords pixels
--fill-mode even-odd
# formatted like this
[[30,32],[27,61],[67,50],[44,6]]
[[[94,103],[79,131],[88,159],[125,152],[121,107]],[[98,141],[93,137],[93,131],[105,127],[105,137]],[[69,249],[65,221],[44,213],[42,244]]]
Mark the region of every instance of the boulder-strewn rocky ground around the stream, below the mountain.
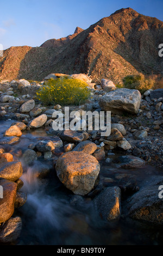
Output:
[[[48,78],[55,78],[54,74]],[[1,92],[1,120],[13,120],[9,129],[0,138],[0,185],[3,199],[0,199],[0,241],[12,242],[21,233],[22,221],[12,217],[15,208],[26,203],[27,195],[21,192],[23,182],[22,163],[15,161],[11,148],[21,141],[26,131],[42,129],[47,137],[28,145],[20,156],[24,166],[30,166],[37,159],[53,163],[59,180],[76,195],[74,200],[90,197],[99,215],[105,221],[118,221],[121,217],[121,193],[133,193],[127,202],[126,215],[138,220],[162,223],[162,200],[158,197],[158,187],[162,176],[153,180],[145,188],[135,184],[100,186],[100,162],[118,164],[124,169],[142,168],[152,164],[163,166],[163,89],[148,90],[143,95],[137,90],[117,89],[108,80],[101,84],[91,83],[90,77],[74,77],[87,82],[91,98],[80,107],[71,106],[73,111],[111,111],[111,134],[101,137],[101,131],[54,131],[53,112],[64,113],[60,105],[47,108],[35,98],[41,84],[30,84],[26,80],[3,82]],[[55,154],[59,149],[60,153]],[[10,151],[10,153],[9,153]],[[120,155],[119,157],[114,157]],[[15,157],[15,156],[14,156]],[[48,174],[48,169],[40,167],[40,178]],[[119,178],[123,179],[123,175]],[[106,179],[105,179],[106,181]],[[146,193],[147,192],[147,193]]]

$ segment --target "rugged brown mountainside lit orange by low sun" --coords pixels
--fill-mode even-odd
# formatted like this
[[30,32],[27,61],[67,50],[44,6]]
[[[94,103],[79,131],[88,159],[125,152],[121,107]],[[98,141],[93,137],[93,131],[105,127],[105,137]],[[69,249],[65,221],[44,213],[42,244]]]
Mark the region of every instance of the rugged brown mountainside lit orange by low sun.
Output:
[[11,47],[0,58],[0,79],[42,80],[51,73],[85,73],[120,83],[129,74],[163,75],[158,46],[163,22],[121,9],[73,35],[40,47]]

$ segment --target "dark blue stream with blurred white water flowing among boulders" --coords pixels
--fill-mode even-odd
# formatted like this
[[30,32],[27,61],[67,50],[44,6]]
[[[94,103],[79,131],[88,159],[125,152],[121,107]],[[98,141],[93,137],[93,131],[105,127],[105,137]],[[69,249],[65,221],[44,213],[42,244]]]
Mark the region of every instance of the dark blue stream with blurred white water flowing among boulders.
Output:
[[[0,122],[0,133],[12,121]],[[93,200],[83,197],[74,201],[74,195],[59,181],[52,168],[47,178],[37,178],[40,166],[50,164],[49,161],[37,160],[33,166],[25,166],[21,159],[21,151],[28,145],[35,143],[38,137],[48,136],[42,129],[25,131],[20,142],[6,145],[5,149],[14,155],[14,161],[21,161],[23,165],[24,182],[21,191],[27,193],[27,202],[15,210],[15,216],[22,218],[23,228],[16,245],[159,245],[162,243],[163,231],[161,226],[151,223],[134,221],[122,217],[116,223],[104,222],[93,205]],[[99,176],[112,179],[112,183],[105,182],[105,186],[117,185],[115,176],[124,174],[133,176],[138,186],[146,184],[147,178],[153,174],[160,174],[161,170],[153,166],[141,169],[124,170],[101,162]],[[123,209],[122,198],[122,209]],[[76,202],[76,203],[75,203]]]

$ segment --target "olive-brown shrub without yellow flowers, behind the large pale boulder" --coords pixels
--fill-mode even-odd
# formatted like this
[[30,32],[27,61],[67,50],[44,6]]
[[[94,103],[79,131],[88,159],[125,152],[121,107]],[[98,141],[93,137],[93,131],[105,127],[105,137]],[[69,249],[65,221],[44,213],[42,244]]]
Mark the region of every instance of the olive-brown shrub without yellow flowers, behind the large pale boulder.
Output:
[[143,74],[126,76],[123,78],[123,83],[125,88],[137,89],[141,94],[155,86],[155,80],[146,78]]

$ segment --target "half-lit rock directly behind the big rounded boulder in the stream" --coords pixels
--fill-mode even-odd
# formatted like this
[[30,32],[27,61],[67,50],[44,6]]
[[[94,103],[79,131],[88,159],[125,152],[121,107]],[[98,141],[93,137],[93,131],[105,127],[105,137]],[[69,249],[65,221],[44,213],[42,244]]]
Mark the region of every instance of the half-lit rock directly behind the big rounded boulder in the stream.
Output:
[[97,149],[97,145],[91,141],[80,142],[73,151],[81,151],[86,154],[93,154]]

